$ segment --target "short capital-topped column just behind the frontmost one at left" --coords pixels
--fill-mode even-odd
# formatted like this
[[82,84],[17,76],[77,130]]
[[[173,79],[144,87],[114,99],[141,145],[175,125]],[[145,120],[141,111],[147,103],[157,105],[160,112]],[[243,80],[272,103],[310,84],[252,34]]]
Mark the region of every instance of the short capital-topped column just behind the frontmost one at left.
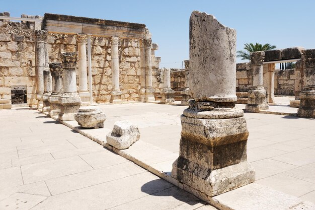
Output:
[[49,97],[50,111],[49,116],[59,115],[60,104],[59,97],[61,96],[62,89],[62,64],[60,62],[49,63],[49,69],[52,76],[52,93]]

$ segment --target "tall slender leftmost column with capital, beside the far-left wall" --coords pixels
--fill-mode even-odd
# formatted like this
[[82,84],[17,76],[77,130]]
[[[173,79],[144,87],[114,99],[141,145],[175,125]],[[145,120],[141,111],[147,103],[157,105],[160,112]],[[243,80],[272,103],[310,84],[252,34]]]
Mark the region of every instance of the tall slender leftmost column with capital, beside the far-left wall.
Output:
[[44,94],[44,70],[48,67],[46,56],[47,51],[47,35],[48,32],[44,30],[35,30],[35,75],[36,75],[36,95],[38,100],[37,108],[43,108]]

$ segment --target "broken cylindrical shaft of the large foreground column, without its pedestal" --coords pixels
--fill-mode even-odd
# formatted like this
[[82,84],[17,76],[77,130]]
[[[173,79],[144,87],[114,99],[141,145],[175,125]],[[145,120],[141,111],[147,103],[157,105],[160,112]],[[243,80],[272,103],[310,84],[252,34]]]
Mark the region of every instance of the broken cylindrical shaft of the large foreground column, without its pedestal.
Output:
[[[196,101],[237,100],[235,40],[236,31],[223,26],[212,15],[197,11],[192,13],[189,88]],[[209,84],[215,88],[209,88]]]

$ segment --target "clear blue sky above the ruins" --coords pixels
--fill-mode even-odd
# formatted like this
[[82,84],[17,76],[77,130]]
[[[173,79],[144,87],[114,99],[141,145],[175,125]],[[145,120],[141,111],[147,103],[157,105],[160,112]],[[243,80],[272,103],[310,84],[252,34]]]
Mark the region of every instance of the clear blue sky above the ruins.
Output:
[[[143,23],[159,44],[160,67],[181,67],[189,59],[189,17],[198,10],[214,15],[237,30],[237,49],[259,42],[277,48],[315,48],[315,1],[1,1],[1,11],[21,14],[55,13],[89,18]],[[240,59],[237,60],[241,62]]]

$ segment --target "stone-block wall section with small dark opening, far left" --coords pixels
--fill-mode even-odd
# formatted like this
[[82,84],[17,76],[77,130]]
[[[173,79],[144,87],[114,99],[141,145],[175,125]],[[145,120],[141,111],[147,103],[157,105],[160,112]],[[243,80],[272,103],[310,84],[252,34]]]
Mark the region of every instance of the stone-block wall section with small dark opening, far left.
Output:
[[0,98],[11,100],[11,88],[19,87],[36,105],[34,24],[0,21]]

